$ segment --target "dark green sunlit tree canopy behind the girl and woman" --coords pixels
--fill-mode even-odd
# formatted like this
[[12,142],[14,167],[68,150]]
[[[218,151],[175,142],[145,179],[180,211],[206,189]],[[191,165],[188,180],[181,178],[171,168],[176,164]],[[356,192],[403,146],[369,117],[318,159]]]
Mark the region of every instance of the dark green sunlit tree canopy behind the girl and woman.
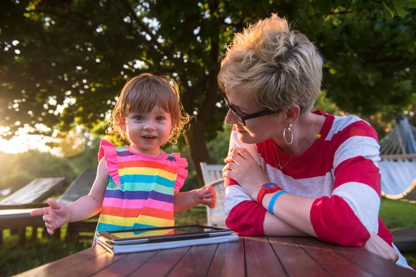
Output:
[[322,52],[323,88],[340,109],[393,114],[415,102],[415,7],[414,0],[1,1],[0,125],[10,127],[4,136],[40,123],[102,133],[125,80],[162,73],[180,82],[184,109],[197,115],[185,142],[200,173],[199,162],[211,161],[205,141],[223,125],[216,75],[235,32],[271,12],[286,16]]

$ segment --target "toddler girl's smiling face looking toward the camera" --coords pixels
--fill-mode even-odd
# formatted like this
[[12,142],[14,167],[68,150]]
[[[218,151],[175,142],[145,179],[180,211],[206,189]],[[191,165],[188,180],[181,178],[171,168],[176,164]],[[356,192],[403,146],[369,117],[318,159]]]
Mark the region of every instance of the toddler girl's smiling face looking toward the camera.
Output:
[[160,146],[164,145],[171,136],[171,114],[155,105],[152,111],[140,114],[133,112],[125,118],[123,126],[135,152],[150,157],[160,155]]

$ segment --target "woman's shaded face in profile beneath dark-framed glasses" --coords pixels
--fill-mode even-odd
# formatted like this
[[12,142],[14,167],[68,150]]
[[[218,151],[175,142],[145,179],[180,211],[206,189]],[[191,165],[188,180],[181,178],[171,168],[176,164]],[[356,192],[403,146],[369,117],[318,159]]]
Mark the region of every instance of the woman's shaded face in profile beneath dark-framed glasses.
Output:
[[[263,110],[259,107],[251,95],[243,95],[238,91],[231,90],[227,93],[229,104],[241,115],[254,114]],[[279,136],[283,132],[283,113],[276,115],[259,116],[245,120],[245,126],[241,125],[232,111],[227,111],[225,124],[235,125],[239,133],[239,139],[243,143],[260,143],[266,139]]]

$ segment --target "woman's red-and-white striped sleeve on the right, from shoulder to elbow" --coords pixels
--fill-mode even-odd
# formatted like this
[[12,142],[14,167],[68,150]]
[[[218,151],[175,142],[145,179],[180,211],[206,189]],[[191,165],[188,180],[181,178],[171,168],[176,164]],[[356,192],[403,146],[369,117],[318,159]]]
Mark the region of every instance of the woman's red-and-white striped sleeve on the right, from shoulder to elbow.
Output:
[[336,128],[326,139],[333,145],[333,193],[331,197],[315,199],[311,223],[320,240],[363,247],[370,234],[379,231],[381,175],[377,167],[377,134],[356,116],[347,116]]

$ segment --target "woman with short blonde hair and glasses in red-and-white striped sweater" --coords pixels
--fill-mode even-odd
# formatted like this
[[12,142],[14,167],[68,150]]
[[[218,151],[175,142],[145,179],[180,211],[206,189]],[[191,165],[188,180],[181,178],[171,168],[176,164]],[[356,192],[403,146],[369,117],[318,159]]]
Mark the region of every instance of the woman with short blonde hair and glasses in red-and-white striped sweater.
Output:
[[218,74],[225,123],[234,125],[223,169],[226,224],[241,235],[366,247],[408,267],[378,216],[374,128],[356,116],[311,112],[322,64],[309,39],[277,15],[237,33],[227,48]]

